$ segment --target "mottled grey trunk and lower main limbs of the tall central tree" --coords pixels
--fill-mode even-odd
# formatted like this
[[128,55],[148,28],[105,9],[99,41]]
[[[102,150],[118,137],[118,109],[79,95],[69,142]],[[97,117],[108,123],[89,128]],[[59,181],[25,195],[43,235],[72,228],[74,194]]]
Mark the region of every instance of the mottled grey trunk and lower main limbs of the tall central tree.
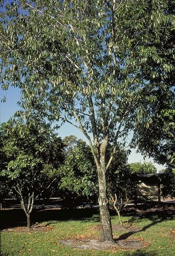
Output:
[[101,241],[107,241],[115,244],[115,240],[113,238],[113,231],[111,225],[110,212],[108,209],[108,198],[107,198],[107,186],[106,186],[106,168],[110,165],[110,162],[106,165],[106,149],[108,144],[108,123],[106,115],[103,116],[103,141],[99,143],[98,132],[96,126],[96,118],[94,112],[94,106],[92,97],[89,96],[89,108],[90,108],[90,120],[92,124],[92,133],[93,133],[93,141],[95,143],[95,148],[93,147],[92,140],[90,136],[86,133],[81,120],[79,119],[78,114],[74,111],[75,119],[79,123],[79,127],[82,130],[83,134],[89,141],[89,145],[96,163],[97,174],[99,179],[99,208],[100,208],[100,219],[101,219]]

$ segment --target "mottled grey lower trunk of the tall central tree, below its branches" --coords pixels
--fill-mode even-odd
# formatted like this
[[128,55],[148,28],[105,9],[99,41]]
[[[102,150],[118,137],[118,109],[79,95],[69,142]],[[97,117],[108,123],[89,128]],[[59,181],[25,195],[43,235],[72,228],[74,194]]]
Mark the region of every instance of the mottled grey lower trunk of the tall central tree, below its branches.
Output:
[[115,243],[111,226],[111,218],[108,209],[107,187],[105,169],[98,168],[99,176],[99,207],[101,219],[101,241]]

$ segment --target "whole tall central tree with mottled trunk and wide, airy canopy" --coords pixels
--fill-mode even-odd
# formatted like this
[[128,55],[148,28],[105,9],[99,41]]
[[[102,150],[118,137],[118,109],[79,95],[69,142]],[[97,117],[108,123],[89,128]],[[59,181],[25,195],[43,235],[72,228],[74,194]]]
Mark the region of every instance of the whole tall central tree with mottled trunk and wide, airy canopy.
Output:
[[171,91],[170,5],[18,0],[1,12],[2,87],[21,88],[21,105],[29,113],[71,123],[88,139],[99,182],[102,241],[114,243],[107,169],[118,148],[128,146],[131,131],[136,137],[144,111],[149,119],[160,92],[163,98]]

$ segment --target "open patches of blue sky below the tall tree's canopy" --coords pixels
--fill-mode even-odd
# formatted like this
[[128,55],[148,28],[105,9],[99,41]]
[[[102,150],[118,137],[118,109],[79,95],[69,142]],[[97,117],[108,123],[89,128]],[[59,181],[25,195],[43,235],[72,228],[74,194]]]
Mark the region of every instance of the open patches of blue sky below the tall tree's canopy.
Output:
[[[6,102],[0,101],[0,123],[7,122],[10,116],[12,116],[13,113],[15,113],[17,109],[19,109],[19,106],[17,105],[17,101],[20,100],[20,91],[18,88],[12,88],[12,87],[10,87],[8,91],[3,91],[1,89],[0,99],[2,99],[3,96],[6,96]],[[83,134],[78,129],[73,127],[71,124],[64,124],[64,126],[62,126],[60,130],[58,130],[58,133],[59,133],[59,136],[62,138],[64,138],[65,136],[74,134],[76,137],[86,140]],[[135,150],[132,150],[131,155],[129,155],[128,157],[128,162],[140,162],[140,161],[141,162],[144,161],[142,155],[137,154]],[[152,159],[148,159],[148,158],[146,158],[146,161],[153,162]],[[155,164],[155,167],[157,168],[157,171],[160,171],[161,169],[163,169],[162,165]]]

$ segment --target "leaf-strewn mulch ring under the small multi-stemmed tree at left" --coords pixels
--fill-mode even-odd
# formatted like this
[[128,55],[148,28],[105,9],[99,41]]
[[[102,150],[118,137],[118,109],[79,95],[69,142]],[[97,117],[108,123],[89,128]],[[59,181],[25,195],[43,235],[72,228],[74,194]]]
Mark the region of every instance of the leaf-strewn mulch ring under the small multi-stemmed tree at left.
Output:
[[46,232],[46,231],[50,231],[53,230],[54,227],[52,226],[47,226],[43,223],[36,223],[33,226],[31,226],[31,229],[29,229],[28,227],[10,227],[9,229],[3,229],[1,231],[6,231],[6,232],[24,232],[24,233],[35,233],[35,232]]

